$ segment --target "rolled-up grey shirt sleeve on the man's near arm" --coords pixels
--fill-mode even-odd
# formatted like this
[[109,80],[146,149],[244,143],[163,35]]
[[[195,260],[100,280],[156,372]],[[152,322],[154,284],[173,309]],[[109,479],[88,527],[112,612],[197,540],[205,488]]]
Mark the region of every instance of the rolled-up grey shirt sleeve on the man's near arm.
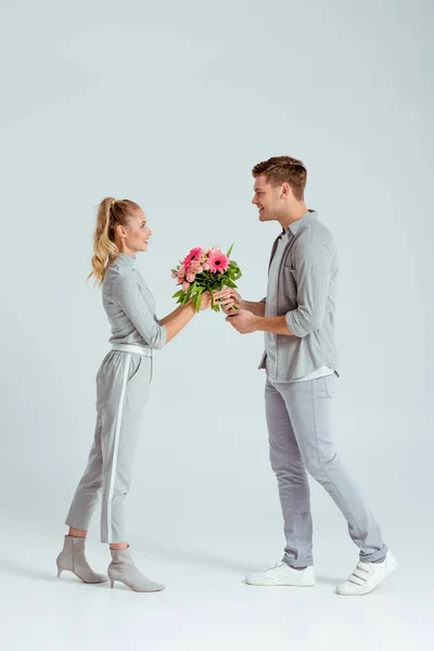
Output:
[[297,307],[285,315],[288,328],[295,336],[304,337],[321,328],[327,309],[332,259],[330,252],[302,259],[294,273],[297,285]]

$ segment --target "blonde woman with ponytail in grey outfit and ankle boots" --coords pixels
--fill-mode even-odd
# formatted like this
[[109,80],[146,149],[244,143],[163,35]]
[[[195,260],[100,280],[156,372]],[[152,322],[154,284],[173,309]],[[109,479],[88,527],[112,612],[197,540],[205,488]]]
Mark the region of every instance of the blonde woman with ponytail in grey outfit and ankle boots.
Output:
[[[102,301],[112,328],[112,350],[97,375],[97,426],[88,465],[75,493],[66,524],[69,532],[58,557],[58,576],[64,570],[85,583],[119,580],[139,592],[164,589],[136,567],[124,524],[124,501],[131,481],[139,427],[153,374],[153,350],[159,350],[194,316],[191,304],[162,320],[155,301],[136,268],[136,254],[148,250],[152,234],[146,217],[132,201],[104,199],[98,210],[92,272],[102,285]],[[227,291],[218,292],[218,299]],[[210,306],[202,297],[201,310]],[[86,535],[102,493],[101,540],[110,544],[108,577],[94,573],[85,556]]]

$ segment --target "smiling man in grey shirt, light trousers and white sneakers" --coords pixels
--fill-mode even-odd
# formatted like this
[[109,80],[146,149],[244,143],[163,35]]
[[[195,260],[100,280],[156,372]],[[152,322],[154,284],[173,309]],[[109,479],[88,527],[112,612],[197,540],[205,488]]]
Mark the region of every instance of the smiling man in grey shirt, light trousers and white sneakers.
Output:
[[[286,546],[281,562],[250,574],[256,586],[314,586],[312,523],[307,473],[332,497],[359,547],[359,562],[339,595],[367,595],[396,567],[372,514],[336,456],[330,424],[337,373],[334,311],[337,256],[333,238],[304,201],[307,171],[290,156],[253,168],[260,221],[279,221],[267,297],[243,301],[231,290],[227,320],[241,334],[265,332],[266,416]],[[230,308],[239,309],[230,316]],[[307,472],[306,472],[307,471]]]

